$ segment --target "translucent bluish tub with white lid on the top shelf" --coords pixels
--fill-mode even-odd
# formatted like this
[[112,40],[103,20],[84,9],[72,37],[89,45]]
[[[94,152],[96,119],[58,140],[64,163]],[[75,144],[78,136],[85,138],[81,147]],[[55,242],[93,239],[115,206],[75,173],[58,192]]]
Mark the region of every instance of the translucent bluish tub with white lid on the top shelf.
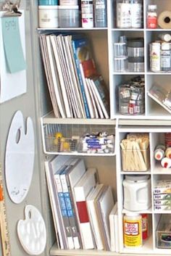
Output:
[[78,28],[79,9],[75,6],[59,6],[59,28]]

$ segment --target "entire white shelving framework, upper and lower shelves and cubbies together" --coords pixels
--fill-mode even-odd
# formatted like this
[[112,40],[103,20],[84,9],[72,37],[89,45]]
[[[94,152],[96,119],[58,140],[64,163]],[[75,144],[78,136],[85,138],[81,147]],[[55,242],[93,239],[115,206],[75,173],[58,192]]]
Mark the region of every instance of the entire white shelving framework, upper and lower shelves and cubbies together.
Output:
[[[164,110],[159,104],[154,102],[148,95],[147,92],[149,88],[154,83],[162,84],[165,88],[170,88],[170,73],[152,73],[149,70],[149,44],[151,41],[157,39],[157,35],[161,32],[171,33],[170,30],[162,30],[157,28],[155,30],[149,30],[146,28],[146,9],[148,4],[157,4],[158,13],[165,9],[171,9],[170,0],[143,0],[143,28],[141,29],[119,29],[115,25],[115,10],[114,10],[114,0],[107,0],[107,13],[108,13],[108,27],[107,28],[48,28],[43,30],[38,28],[38,33],[45,33],[46,31],[59,31],[59,33],[66,33],[74,31],[75,33],[86,33],[88,38],[91,40],[91,45],[94,53],[94,59],[98,67],[99,73],[102,74],[107,85],[109,85],[110,94],[110,119],[109,120],[91,120],[91,119],[62,119],[55,118],[53,112],[43,113],[41,117],[41,128],[43,135],[43,149],[46,154],[55,154],[55,152],[48,152],[46,150],[46,141],[44,128],[47,125],[61,125],[61,127],[74,128],[77,125],[84,125],[87,127],[96,125],[103,126],[104,128],[112,128],[115,133],[116,125],[116,149],[114,154],[107,155],[103,154],[99,157],[98,154],[77,154],[80,157],[84,157],[86,160],[86,165],[92,166],[96,165],[99,170],[100,181],[104,183],[109,183],[114,189],[114,193],[117,192],[117,202],[118,202],[118,215],[119,215],[119,238],[120,238],[120,253],[122,255],[170,255],[170,249],[157,249],[156,247],[156,229],[159,223],[159,218],[161,214],[170,214],[171,212],[155,212],[153,209],[153,197],[151,197],[151,208],[149,210],[143,211],[141,213],[148,213],[150,219],[150,237],[143,244],[143,247],[138,249],[127,249],[123,244],[123,234],[122,234],[122,217],[126,210],[123,209],[123,191],[122,191],[122,180],[125,174],[148,174],[151,176],[151,192],[154,183],[157,179],[164,178],[169,179],[171,176],[171,170],[163,170],[156,162],[152,153],[154,152],[155,146],[163,141],[163,134],[166,132],[171,132],[170,125],[170,113]],[[118,42],[120,36],[137,37],[141,36],[144,38],[144,59],[145,67],[143,73],[118,73],[114,71],[114,42]],[[101,54],[103,53],[103,54]],[[133,78],[137,75],[141,75],[145,78],[145,112],[143,115],[120,115],[118,109],[118,95],[116,94],[118,86],[121,83]],[[63,125],[63,126],[62,126]],[[130,132],[148,132],[150,138],[150,168],[146,172],[124,172],[122,171],[121,159],[120,159],[120,140]],[[66,153],[68,154],[68,153]],[[73,153],[75,154],[75,153]],[[115,156],[117,162],[115,164]],[[96,158],[99,157],[99,158]],[[100,159],[100,161],[99,161]],[[103,163],[103,166],[101,166]],[[115,174],[116,173],[116,174]],[[112,178],[111,178],[112,176]],[[117,176],[117,178],[116,178]],[[51,255],[120,255],[120,253],[115,252],[105,252],[96,250],[60,250],[57,244],[51,248]]]

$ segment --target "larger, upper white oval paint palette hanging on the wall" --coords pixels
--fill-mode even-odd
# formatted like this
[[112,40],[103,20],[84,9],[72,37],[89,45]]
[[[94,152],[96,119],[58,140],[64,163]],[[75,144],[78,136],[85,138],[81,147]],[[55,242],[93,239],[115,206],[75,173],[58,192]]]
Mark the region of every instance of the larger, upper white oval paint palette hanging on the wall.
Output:
[[12,202],[25,199],[33,176],[35,138],[33,121],[24,120],[19,110],[14,114],[9,128],[5,155],[5,178]]

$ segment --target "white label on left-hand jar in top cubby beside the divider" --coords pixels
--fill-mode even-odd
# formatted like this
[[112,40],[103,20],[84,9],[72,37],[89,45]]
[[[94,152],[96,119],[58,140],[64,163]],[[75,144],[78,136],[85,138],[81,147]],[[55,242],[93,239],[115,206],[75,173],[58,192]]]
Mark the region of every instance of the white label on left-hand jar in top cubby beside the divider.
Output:
[[117,4],[117,27],[131,28],[131,4]]

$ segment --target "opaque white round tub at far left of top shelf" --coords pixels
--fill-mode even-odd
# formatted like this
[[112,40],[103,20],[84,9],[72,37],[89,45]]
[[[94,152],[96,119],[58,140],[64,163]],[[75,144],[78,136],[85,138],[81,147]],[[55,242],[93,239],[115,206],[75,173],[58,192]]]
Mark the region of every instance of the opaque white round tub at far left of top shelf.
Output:
[[58,6],[39,5],[38,23],[40,28],[58,28]]

